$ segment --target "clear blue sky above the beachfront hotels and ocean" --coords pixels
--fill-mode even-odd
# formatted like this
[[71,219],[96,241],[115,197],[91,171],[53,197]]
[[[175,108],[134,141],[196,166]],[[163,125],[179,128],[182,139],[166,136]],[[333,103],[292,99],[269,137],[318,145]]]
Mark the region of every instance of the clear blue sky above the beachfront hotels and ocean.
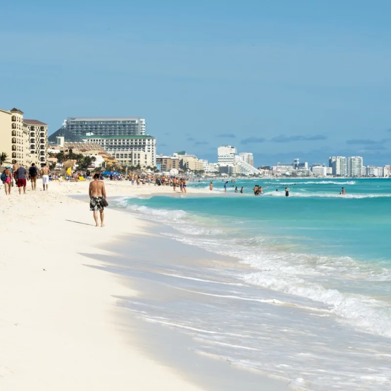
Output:
[[8,2],[0,108],[139,115],[158,152],[391,164],[389,1]]

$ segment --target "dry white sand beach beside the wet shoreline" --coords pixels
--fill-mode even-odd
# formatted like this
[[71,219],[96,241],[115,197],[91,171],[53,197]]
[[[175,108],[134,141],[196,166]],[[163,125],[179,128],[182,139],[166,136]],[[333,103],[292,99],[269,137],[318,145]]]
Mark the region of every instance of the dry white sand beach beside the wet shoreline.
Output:
[[[87,195],[88,182],[50,183],[48,192],[37,185],[10,196],[1,187],[0,390],[209,390],[139,349],[114,298],[137,291],[87,266],[101,262],[83,254],[110,256],[102,244],[146,235],[148,223],[109,209],[97,228],[87,203],[68,196]],[[108,197],[172,192],[129,182],[106,188]]]

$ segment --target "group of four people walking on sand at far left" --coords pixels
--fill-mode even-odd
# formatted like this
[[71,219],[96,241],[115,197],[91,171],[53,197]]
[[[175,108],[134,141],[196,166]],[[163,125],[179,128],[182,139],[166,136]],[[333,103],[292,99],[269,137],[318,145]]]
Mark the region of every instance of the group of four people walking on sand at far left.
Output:
[[37,188],[37,177],[38,175],[42,177],[43,190],[47,190],[49,186],[49,167],[43,163],[41,170],[38,167],[31,163],[31,166],[27,170],[24,166],[20,166],[17,161],[14,161],[14,164],[11,166],[5,166],[5,169],[1,173],[0,179],[5,187],[5,194],[10,195],[12,186],[14,185],[14,180],[19,189],[19,194],[26,194],[27,181],[31,181],[31,189],[33,191]]

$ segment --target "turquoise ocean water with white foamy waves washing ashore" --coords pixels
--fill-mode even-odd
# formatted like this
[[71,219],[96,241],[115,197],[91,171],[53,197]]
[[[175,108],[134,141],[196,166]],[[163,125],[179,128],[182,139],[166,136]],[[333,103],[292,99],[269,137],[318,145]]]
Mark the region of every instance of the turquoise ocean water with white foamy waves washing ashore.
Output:
[[[255,184],[264,195],[253,195]],[[191,195],[194,186],[208,187],[199,182],[188,186],[189,196],[116,200],[130,213],[174,228],[165,234],[171,239],[235,260],[229,267],[165,274],[168,283],[209,298],[187,303],[185,319],[178,316],[180,304],[129,306],[181,332],[200,330],[200,354],[298,389],[390,390],[391,180],[231,185],[244,186],[244,194],[229,187],[224,196]],[[223,182],[214,186],[212,194],[223,191]]]

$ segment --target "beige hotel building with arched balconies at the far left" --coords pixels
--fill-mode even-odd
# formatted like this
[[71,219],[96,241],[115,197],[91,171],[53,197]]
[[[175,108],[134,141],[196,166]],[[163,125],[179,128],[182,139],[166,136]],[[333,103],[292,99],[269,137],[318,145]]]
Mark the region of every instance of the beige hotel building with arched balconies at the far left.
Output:
[[41,167],[47,161],[47,125],[38,120],[23,119],[23,112],[13,108],[0,109],[0,154],[7,161],[23,166],[35,163]]

